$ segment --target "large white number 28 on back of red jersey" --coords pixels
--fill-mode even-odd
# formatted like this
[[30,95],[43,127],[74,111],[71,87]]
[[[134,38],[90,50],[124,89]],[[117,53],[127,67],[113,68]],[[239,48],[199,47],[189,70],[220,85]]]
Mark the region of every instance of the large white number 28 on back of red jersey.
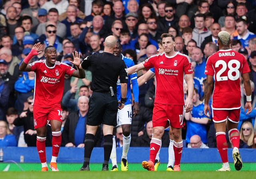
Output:
[[[233,64],[236,66],[233,67]],[[215,64],[215,68],[219,67],[220,65],[222,65],[222,68],[216,74],[217,81],[226,81],[228,79],[235,81],[240,77],[240,71],[238,70],[240,68],[240,62],[238,60],[230,60],[228,62],[228,66],[224,60],[218,60]],[[228,76],[221,76],[221,74],[226,71],[227,67],[229,69]],[[233,72],[235,72],[235,76],[233,76]]]

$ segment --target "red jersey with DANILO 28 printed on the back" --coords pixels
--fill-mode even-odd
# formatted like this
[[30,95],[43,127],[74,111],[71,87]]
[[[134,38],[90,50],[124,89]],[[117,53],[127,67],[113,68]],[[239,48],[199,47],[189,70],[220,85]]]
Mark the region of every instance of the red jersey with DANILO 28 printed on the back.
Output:
[[241,107],[240,76],[250,72],[246,58],[234,50],[219,50],[207,62],[205,74],[214,76],[212,109],[231,110]]

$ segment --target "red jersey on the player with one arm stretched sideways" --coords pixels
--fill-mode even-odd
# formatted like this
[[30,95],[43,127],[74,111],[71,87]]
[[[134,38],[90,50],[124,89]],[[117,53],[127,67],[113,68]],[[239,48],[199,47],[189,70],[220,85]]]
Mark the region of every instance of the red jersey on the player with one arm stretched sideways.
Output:
[[184,74],[192,74],[190,59],[176,52],[174,56],[165,53],[151,56],[143,62],[144,67],[155,69],[155,103],[184,105]]

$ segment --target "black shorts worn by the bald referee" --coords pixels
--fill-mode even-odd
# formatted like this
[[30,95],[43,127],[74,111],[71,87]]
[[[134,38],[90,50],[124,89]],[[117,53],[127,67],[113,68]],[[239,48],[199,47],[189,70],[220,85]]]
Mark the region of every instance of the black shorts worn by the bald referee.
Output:
[[93,92],[90,97],[87,125],[113,125],[116,126],[118,102],[116,95],[110,93]]

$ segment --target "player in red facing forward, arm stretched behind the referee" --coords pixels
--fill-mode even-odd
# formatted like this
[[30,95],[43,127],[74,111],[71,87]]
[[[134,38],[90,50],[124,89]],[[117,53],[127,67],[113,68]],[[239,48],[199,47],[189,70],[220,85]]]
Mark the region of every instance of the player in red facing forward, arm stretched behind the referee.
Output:
[[[192,110],[192,96],[194,90],[193,69],[188,56],[174,51],[174,36],[162,34],[164,53],[151,56],[144,62],[128,68],[132,74],[143,68],[155,69],[156,98],[153,109],[153,137],[150,142],[150,159],[143,161],[142,167],[154,171],[156,154],[162,144],[164,129],[171,125],[174,137],[174,171],[180,171],[182,155],[182,136],[184,104],[186,112]],[[188,98],[184,102],[184,74],[188,84]]]

